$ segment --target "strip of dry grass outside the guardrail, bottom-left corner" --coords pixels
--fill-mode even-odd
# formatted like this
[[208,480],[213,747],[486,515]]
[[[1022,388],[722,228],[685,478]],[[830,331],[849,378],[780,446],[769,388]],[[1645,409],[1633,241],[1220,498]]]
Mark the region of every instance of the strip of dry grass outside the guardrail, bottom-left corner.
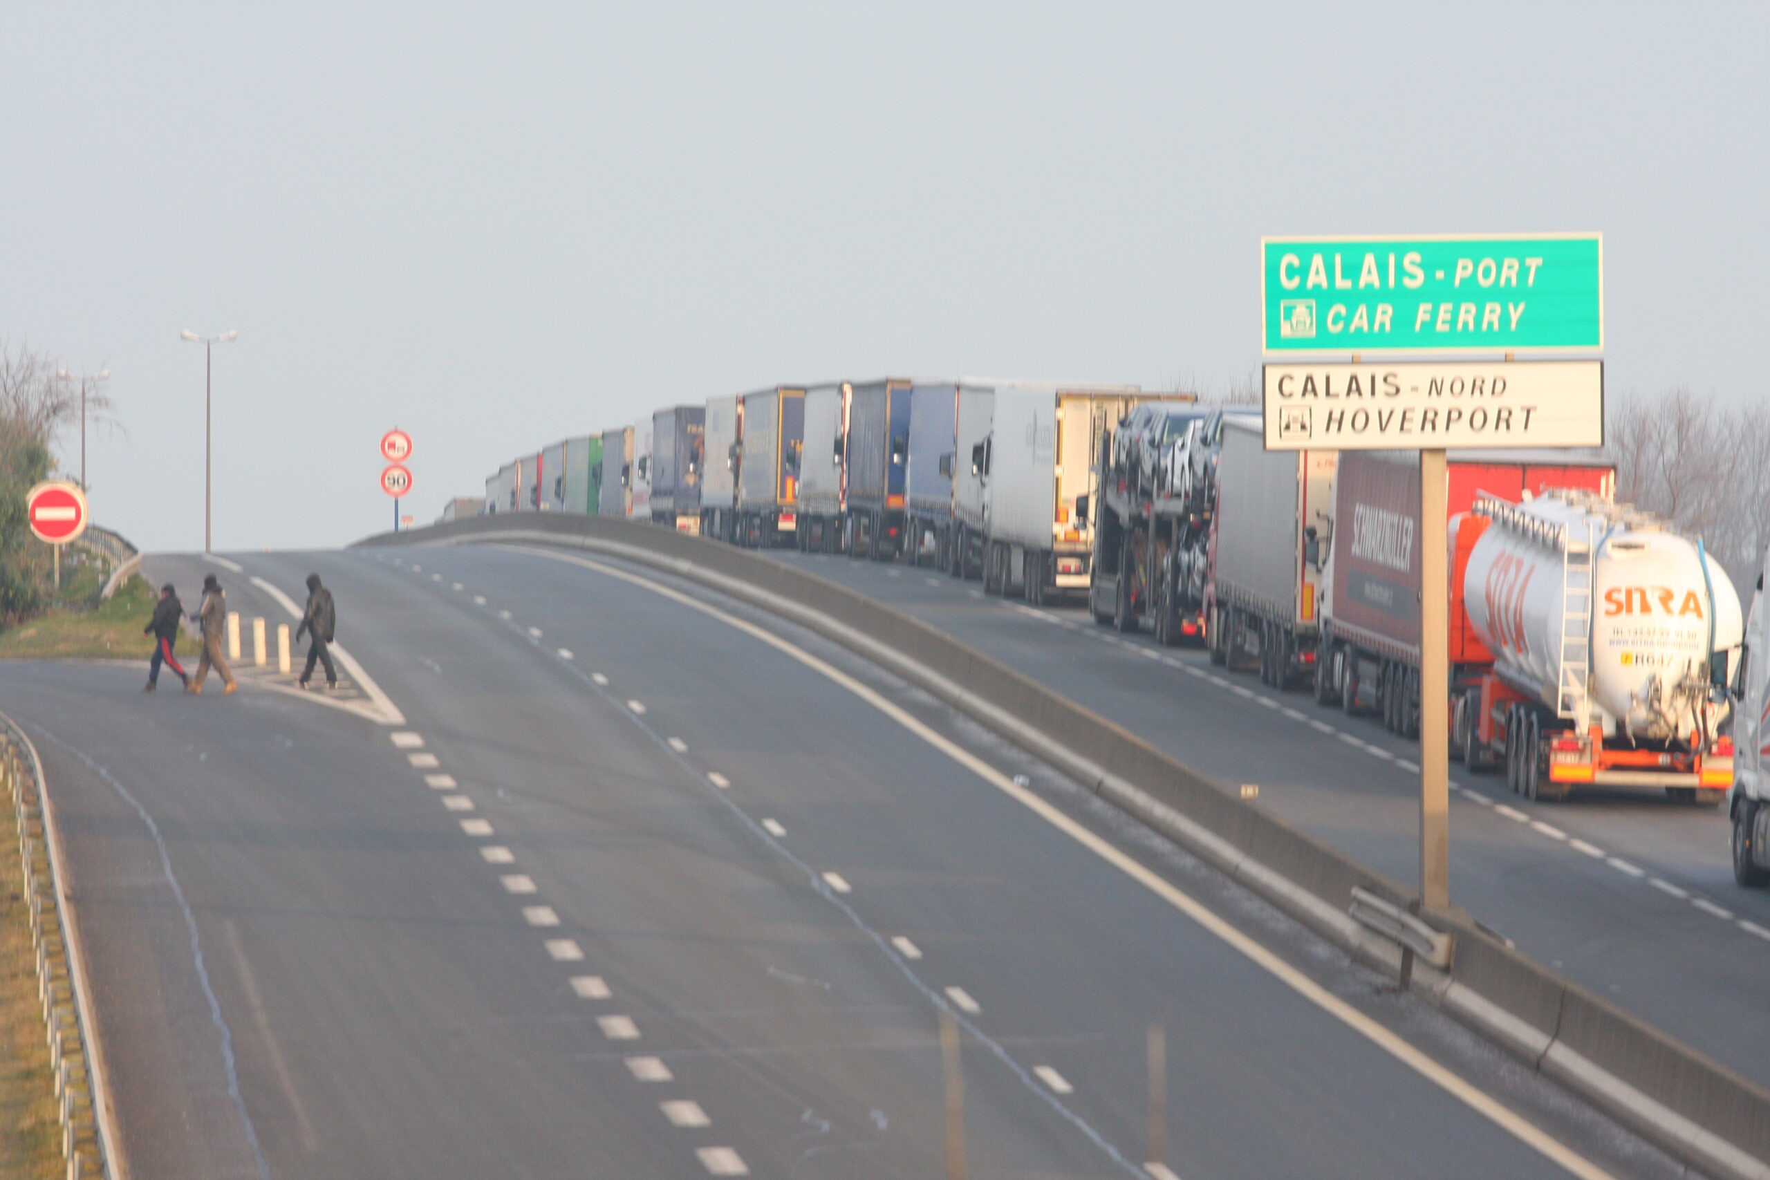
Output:
[[[4,796],[0,796],[4,798]],[[11,810],[7,810],[11,814]],[[11,824],[7,824],[11,826]],[[11,835],[11,833],[9,833]],[[67,1175],[18,844],[0,842],[0,1176]]]

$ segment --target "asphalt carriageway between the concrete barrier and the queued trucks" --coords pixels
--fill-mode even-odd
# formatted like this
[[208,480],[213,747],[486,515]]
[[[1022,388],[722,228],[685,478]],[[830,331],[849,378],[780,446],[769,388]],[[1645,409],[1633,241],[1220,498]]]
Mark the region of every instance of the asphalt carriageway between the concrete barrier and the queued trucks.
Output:
[[[1420,747],[1080,605],[984,598],[933,570],[777,552],[1037,678],[1398,881],[1418,881]],[[1522,950],[1770,1084],[1770,893],[1733,883],[1722,810],[1651,793],[1508,794],[1451,766],[1451,902]]]

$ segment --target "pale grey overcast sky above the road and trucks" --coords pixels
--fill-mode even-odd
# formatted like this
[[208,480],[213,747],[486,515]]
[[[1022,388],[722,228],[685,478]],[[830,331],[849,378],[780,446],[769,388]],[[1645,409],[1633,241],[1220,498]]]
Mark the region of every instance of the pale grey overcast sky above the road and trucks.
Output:
[[[343,545],[653,407],[1218,393],[1262,234],[1598,230],[1605,384],[1770,396],[1770,5],[0,7],[0,336],[110,366],[94,517]],[[62,448],[69,465],[76,446]]]

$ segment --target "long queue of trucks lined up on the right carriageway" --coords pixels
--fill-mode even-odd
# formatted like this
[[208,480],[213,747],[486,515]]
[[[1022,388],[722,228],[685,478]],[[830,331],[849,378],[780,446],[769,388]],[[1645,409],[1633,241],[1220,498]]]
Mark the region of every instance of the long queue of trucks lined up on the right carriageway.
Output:
[[[485,511],[634,517],[1073,598],[1402,736],[1444,709],[1451,757],[1526,798],[1634,787],[1719,805],[1731,789],[1740,879],[1770,881],[1770,660],[1752,667],[1738,594],[1701,541],[1614,492],[1593,455],[1450,453],[1451,688],[1430,702],[1418,456],[1267,451],[1257,410],[1189,395],[775,386],[522,456],[487,479]],[[1763,653],[1758,607],[1752,628]],[[1738,780],[1736,731],[1754,743]]]

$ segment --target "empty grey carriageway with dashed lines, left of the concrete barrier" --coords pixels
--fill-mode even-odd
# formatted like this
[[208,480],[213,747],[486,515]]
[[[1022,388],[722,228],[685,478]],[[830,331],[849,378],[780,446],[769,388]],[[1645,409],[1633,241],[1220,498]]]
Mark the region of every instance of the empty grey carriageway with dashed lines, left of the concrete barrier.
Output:
[[972,1176],[1140,1175],[1152,1026],[1186,1180],[1680,1175],[759,612],[499,548],[235,563],[271,617],[248,575],[319,570],[405,725],[0,667],[133,1176],[943,1175],[942,1008]]

